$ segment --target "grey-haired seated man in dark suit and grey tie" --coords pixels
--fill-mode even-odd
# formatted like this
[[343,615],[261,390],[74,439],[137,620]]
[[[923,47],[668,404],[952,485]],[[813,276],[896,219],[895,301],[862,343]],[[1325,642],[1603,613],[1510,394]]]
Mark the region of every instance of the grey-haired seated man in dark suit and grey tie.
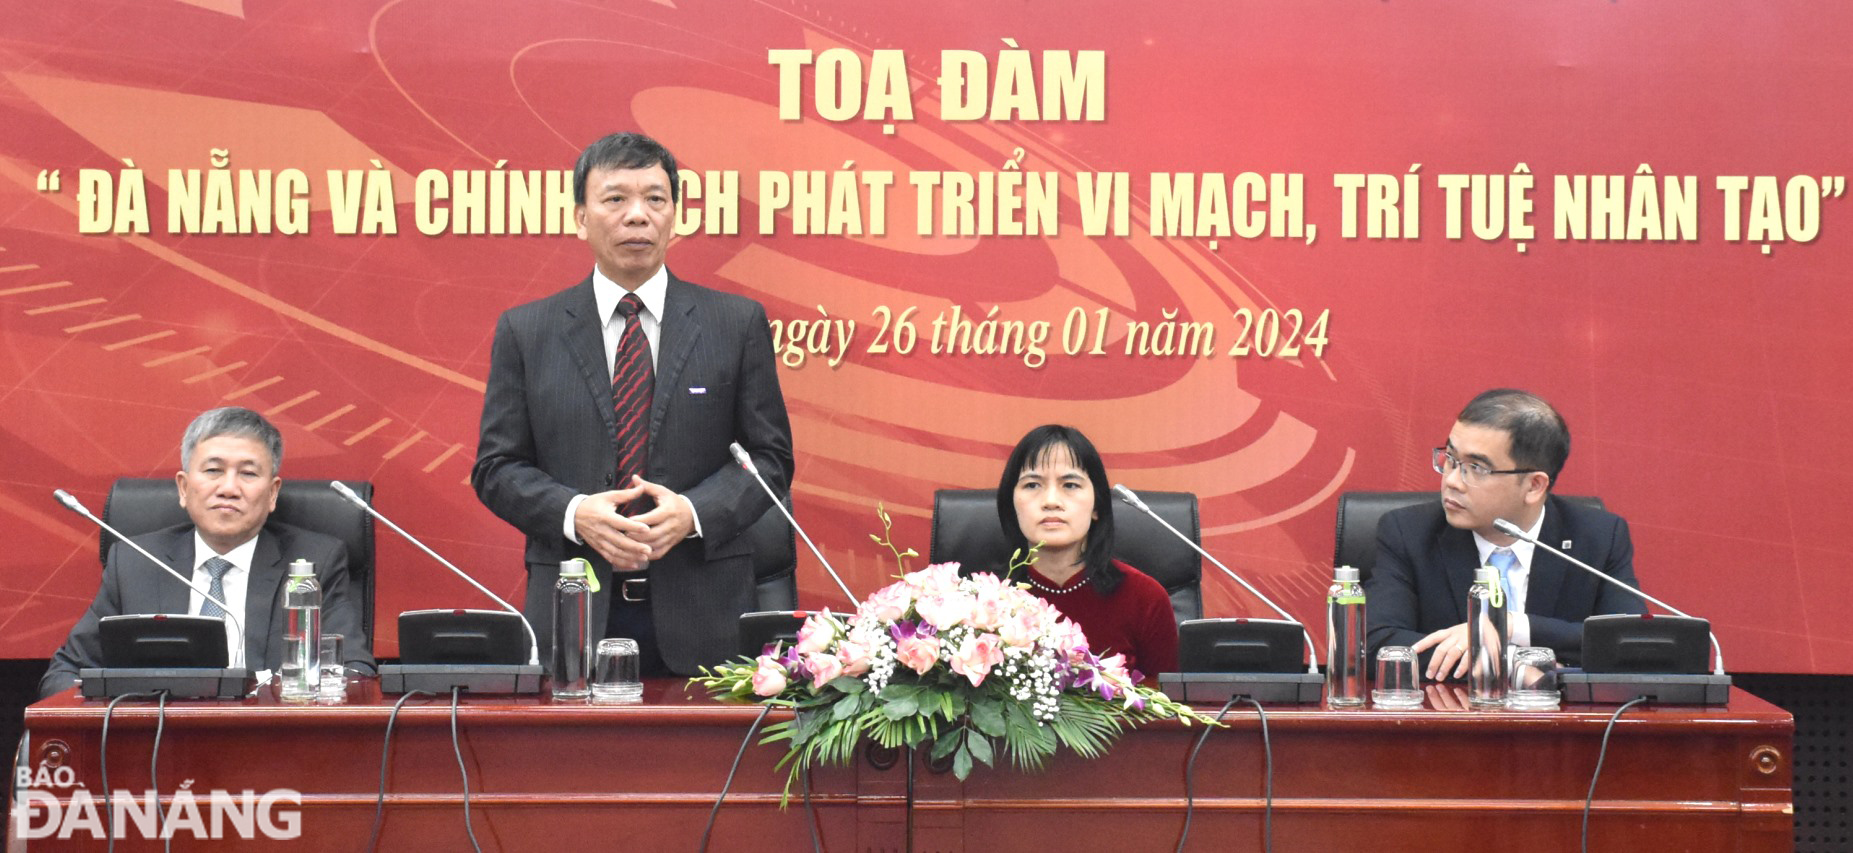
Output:
[[[284,486],[282,462],[284,436],[263,415],[248,408],[202,414],[180,441],[182,471],[174,475],[180,506],[193,523],[135,541],[232,605],[245,636],[235,636],[235,623],[226,619],[228,660],[232,666],[243,660],[254,671],[282,666],[284,577],[293,560],[313,562],[322,584],[322,632],[347,638],[347,666],[371,673],[372,645],[361,629],[359,592],[348,588],[347,545],[334,536],[269,521]],[[98,621],[117,614],[219,616],[221,610],[119,541],[109,547],[96,601],[52,656],[39,695],[76,684],[82,668],[100,666]]]

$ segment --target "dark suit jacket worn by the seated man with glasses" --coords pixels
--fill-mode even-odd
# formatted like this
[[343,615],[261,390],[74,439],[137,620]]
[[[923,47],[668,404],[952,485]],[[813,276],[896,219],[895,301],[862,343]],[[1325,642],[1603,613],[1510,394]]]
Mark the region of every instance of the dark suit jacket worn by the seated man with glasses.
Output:
[[[1634,582],[1634,545],[1627,521],[1612,512],[1545,499],[1538,540]],[[1434,503],[1386,514],[1377,523],[1377,566],[1364,584],[1371,655],[1384,645],[1412,645],[1423,636],[1468,621],[1468,586],[1481,554],[1473,532],[1447,523],[1440,497]],[[1644,614],[1645,605],[1627,590],[1534,549],[1525,592],[1531,643],[1557,651],[1562,664],[1582,660],[1582,619],[1597,614]],[[1423,655],[1427,666],[1429,655]]]

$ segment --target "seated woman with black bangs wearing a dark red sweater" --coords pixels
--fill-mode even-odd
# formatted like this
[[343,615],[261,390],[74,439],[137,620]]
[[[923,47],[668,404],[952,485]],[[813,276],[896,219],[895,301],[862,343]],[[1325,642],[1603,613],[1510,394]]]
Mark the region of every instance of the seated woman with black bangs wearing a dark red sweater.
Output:
[[1041,543],[1030,592],[1080,625],[1095,655],[1125,655],[1149,677],[1177,671],[1171,597],[1114,560],[1112,486],[1088,436],[1058,425],[1023,436],[997,484],[997,519],[1012,547]]

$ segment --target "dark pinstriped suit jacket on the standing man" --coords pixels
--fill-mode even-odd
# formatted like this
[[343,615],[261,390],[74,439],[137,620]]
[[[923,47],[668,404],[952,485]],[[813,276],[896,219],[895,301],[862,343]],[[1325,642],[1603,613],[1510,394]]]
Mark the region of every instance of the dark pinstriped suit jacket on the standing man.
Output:
[[[560,562],[591,560],[599,593],[591,636],[604,636],[611,564],[563,534],[567,503],[613,488],[617,425],[591,276],[515,306],[495,326],[482,434],[471,484],[484,506],[528,536],[526,614],[543,656],[552,638]],[[739,614],[754,610],[752,554],[741,536],[771,499],[734,464],[739,441],[784,491],[791,423],[778,391],[765,310],[745,297],[669,276],[656,352],[645,478],[687,495],[702,536],[649,566],[650,612],[669,669],[693,675],[739,653]]]

